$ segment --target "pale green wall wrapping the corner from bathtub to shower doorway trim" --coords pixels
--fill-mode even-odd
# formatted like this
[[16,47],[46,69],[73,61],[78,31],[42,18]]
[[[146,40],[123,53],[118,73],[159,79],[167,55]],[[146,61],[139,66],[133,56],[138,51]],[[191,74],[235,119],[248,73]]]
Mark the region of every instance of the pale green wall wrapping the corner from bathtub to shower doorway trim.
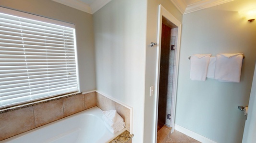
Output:
[[155,84],[157,53],[150,42],[157,41],[159,4],[182,20],[169,0],[112,0],[93,14],[96,87],[134,108],[134,143],[154,143],[149,87]]

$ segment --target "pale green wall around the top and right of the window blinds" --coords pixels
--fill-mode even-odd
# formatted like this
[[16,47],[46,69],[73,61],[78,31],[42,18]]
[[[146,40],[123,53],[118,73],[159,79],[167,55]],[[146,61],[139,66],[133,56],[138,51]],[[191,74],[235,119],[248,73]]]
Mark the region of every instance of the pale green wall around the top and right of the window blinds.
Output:
[[0,6],[75,24],[80,91],[96,89],[93,16],[52,0],[0,0]]

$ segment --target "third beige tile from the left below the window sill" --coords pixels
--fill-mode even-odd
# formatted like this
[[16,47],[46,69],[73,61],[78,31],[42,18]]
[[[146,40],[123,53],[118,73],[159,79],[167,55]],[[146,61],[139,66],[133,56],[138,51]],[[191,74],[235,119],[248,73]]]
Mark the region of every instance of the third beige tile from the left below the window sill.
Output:
[[84,108],[84,95],[75,95],[63,99],[64,117],[71,114],[83,111]]

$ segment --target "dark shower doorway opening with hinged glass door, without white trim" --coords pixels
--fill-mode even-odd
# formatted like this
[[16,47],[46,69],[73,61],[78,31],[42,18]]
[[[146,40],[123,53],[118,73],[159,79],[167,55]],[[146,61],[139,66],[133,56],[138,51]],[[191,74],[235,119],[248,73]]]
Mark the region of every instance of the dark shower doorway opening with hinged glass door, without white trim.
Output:
[[158,129],[162,125],[172,127],[172,104],[174,97],[176,46],[178,27],[171,21],[162,17],[160,75],[158,92]]

